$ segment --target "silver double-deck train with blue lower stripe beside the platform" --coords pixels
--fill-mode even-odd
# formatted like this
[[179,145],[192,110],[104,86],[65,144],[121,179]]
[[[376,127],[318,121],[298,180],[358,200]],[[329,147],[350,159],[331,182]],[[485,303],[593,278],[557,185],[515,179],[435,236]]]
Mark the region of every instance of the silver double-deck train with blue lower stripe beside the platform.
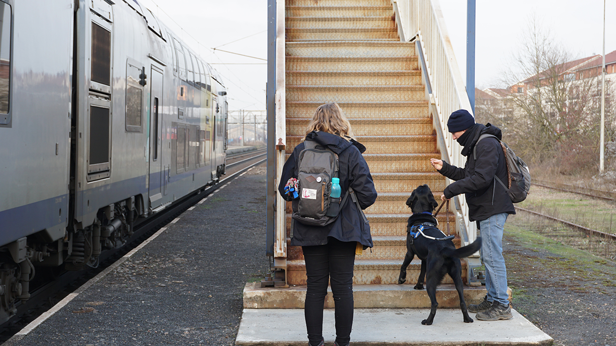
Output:
[[221,76],[137,0],[0,0],[0,321],[225,171]]

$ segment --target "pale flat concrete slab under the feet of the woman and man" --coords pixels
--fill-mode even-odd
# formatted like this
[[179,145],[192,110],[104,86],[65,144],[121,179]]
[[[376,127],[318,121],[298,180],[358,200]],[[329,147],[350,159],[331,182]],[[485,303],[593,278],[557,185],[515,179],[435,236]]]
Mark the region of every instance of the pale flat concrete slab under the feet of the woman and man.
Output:
[[[434,324],[421,321],[428,309],[355,309],[351,345],[551,345],[553,339],[515,310],[513,319],[464,323],[458,309],[439,309]],[[474,314],[471,314],[474,317]],[[325,345],[334,343],[334,311],[323,315]],[[306,346],[302,309],[244,309],[236,345]]]

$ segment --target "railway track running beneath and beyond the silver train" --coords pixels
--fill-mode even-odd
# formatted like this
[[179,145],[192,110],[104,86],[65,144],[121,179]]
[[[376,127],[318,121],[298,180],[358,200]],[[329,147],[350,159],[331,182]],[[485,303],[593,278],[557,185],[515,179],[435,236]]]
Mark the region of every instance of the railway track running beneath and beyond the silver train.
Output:
[[238,175],[248,171],[251,167],[258,166],[265,162],[261,156],[265,155],[264,150],[249,151],[234,155],[233,158],[244,158],[241,161],[227,165],[227,174],[225,177],[214,185],[203,187],[195,191],[192,195],[186,196],[179,203],[168,207],[164,211],[152,219],[136,224],[134,235],[129,239],[128,243],[116,251],[106,251],[100,255],[100,263],[97,268],[88,268],[78,272],[57,272],[51,275],[46,275],[46,281],[37,284],[36,289],[31,291],[30,299],[25,302],[15,304],[17,313],[8,322],[0,325],[0,344],[12,337],[20,331],[28,323],[35,320],[38,316],[49,310],[56,302],[59,302],[71,292],[78,289],[91,278],[105,270],[116,260],[123,257],[129,251],[139,246],[153,233],[167,225],[178,215],[187,211],[201,199],[210,195],[218,188],[235,179]]

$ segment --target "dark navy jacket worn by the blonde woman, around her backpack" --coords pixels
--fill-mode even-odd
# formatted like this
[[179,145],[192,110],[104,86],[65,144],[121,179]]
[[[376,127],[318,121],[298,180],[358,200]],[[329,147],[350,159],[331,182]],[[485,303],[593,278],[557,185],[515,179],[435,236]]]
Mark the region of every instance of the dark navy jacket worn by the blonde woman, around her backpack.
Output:
[[[317,142],[317,149],[320,146],[326,146],[331,151],[338,155],[340,178],[340,187],[342,188],[342,196],[349,190],[349,186],[355,191],[357,200],[362,209],[366,209],[376,201],[375,184],[370,175],[368,164],[363,158],[362,153],[366,148],[355,140],[351,142],[342,139],[338,135],[329,134],[327,132],[310,132],[306,136],[306,140],[314,140]],[[282,177],[278,192],[285,197],[286,200],[291,200],[289,196],[285,196],[285,185],[289,178],[298,177],[298,159],[299,153],[304,150],[304,143],[299,143],[291,153],[290,158],[286,160],[285,166],[282,169]],[[301,188],[301,187],[300,187]],[[293,201],[293,209],[297,211],[297,199]],[[359,241],[364,247],[372,247],[372,236],[370,235],[370,225],[363,221],[360,211],[357,209],[357,204],[353,203],[351,196],[346,200],[346,203],[341,207],[338,218],[323,227],[315,227],[304,225],[291,220],[293,225],[293,238],[291,239],[292,246],[314,246],[327,244],[327,237],[331,236],[339,241]]]

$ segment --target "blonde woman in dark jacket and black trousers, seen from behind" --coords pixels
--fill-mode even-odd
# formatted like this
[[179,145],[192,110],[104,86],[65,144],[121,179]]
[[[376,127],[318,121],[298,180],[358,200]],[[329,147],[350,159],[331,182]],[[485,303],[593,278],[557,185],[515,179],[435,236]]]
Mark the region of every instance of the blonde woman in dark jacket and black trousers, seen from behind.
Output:
[[[352,137],[351,124],[338,104],[326,103],[315,111],[304,141],[312,140],[317,143],[317,149],[326,147],[338,155],[342,194],[351,187],[359,206],[366,209],[375,203],[376,190],[362,156],[366,148]],[[289,179],[298,177],[299,153],[304,148],[304,142],[299,143],[283,167],[278,191],[288,201],[293,195],[285,195],[285,185]],[[297,203],[293,204],[296,207]],[[310,346],[323,345],[323,303],[328,281],[331,281],[335,304],[336,346],[347,346],[351,340],[355,249],[373,246],[370,225],[358,209],[352,198],[347,198],[336,220],[328,225],[309,226],[291,221],[294,222],[291,246],[301,246],[306,260],[304,316]]]

